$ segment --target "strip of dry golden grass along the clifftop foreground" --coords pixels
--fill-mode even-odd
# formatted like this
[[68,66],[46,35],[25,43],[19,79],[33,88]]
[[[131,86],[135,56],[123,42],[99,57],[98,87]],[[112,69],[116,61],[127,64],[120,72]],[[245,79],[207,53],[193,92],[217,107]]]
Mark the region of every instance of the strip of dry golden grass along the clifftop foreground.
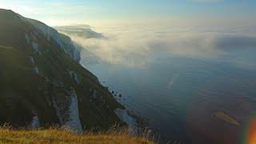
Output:
[[63,129],[12,130],[0,129],[0,143],[145,143],[146,138],[133,137],[124,133],[74,134]]

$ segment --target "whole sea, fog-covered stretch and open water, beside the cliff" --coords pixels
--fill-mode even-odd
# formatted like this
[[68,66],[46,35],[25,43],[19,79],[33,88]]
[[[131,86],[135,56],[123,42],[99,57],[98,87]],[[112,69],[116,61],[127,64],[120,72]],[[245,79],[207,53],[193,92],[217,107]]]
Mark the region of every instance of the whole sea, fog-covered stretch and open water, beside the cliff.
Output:
[[255,26],[91,29],[97,33],[69,33],[83,47],[82,65],[162,139],[241,141],[256,110]]

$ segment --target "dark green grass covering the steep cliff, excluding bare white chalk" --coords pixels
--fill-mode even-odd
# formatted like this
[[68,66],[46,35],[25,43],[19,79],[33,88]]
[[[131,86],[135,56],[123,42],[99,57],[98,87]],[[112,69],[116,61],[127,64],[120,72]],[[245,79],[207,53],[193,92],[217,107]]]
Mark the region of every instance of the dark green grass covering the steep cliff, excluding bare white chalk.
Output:
[[[30,22],[23,22],[14,12],[0,9],[0,123],[26,126],[32,121],[34,114],[31,111],[34,110],[43,126],[58,124],[54,107],[49,105],[47,98],[61,97],[70,87],[78,95],[83,128],[107,130],[119,123],[114,110],[123,107],[93,74],[74,62],[56,43],[48,42],[40,30],[37,31],[40,38],[36,39],[41,54],[34,53],[25,34],[35,30]],[[30,57],[34,58],[34,66]],[[35,66],[39,74],[34,73]],[[68,70],[78,75],[80,85],[70,78]],[[46,82],[46,78],[50,82]],[[64,87],[52,86],[54,81],[62,82]],[[93,98],[94,90],[102,98]]]

